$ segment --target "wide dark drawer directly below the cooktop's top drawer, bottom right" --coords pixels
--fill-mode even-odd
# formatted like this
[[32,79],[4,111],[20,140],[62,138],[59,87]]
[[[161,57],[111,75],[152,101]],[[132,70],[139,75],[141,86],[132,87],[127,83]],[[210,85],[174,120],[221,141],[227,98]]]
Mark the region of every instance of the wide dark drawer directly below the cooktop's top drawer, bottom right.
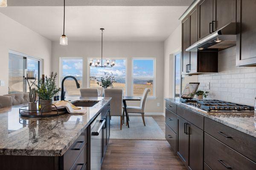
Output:
[[204,161],[212,170],[256,170],[256,163],[204,133]]

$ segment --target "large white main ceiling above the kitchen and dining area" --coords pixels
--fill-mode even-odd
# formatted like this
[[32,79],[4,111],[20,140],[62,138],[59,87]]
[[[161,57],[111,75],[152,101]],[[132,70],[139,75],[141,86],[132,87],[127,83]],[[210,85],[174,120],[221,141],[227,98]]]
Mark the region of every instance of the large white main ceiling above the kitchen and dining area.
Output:
[[[105,28],[105,41],[164,41],[180,24],[178,18],[186,8],[67,6],[65,34],[69,41],[100,41],[99,28]],[[63,34],[61,6],[8,6],[0,12],[49,40],[58,41]]]

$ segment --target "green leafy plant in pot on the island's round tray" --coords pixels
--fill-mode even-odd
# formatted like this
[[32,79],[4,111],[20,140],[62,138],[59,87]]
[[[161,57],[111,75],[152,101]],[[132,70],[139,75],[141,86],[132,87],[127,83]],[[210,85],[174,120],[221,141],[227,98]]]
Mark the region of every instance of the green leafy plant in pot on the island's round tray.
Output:
[[49,77],[38,80],[38,85],[36,85],[35,92],[38,94],[40,99],[41,109],[44,107],[44,112],[52,111],[52,97],[60,91],[60,88],[56,85],[57,73],[50,73]]

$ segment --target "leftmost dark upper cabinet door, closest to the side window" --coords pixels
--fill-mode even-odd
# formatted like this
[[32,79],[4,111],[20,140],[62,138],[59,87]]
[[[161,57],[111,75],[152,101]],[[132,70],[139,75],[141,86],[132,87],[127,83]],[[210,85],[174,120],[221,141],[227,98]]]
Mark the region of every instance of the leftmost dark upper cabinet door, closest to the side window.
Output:
[[185,17],[182,21],[182,73],[188,73],[188,64],[189,64],[189,52],[186,51],[186,48],[189,47],[189,18]]

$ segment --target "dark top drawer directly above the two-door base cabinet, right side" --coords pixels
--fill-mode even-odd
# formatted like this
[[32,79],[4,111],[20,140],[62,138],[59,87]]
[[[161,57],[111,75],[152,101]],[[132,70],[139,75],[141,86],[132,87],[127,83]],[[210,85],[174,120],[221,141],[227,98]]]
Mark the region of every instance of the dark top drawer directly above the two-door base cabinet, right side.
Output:
[[201,116],[180,106],[177,106],[177,115],[199,127],[201,130],[204,130],[204,116]]

